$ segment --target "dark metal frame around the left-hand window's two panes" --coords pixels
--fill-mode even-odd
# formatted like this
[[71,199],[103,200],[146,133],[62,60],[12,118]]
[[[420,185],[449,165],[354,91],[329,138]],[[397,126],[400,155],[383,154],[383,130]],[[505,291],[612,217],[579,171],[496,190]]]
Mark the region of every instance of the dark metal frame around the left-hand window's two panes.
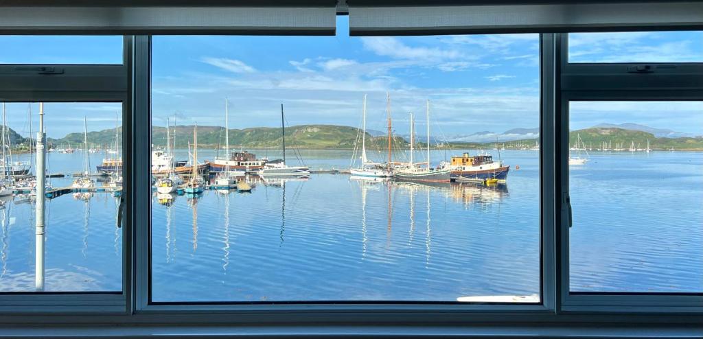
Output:
[[[122,65],[0,65],[0,101],[122,103],[123,203],[131,204],[131,38],[123,38]],[[51,70],[47,74],[47,70]],[[56,72],[59,70],[60,72]],[[44,74],[42,74],[44,73]],[[122,222],[122,291],[0,293],[0,318],[14,314],[127,314],[131,288],[131,218]]]

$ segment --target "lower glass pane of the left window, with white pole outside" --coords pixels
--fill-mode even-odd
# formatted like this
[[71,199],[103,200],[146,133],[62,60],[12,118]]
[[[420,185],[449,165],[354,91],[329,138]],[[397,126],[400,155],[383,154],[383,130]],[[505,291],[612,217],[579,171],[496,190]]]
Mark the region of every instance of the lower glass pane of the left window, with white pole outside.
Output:
[[[0,290],[121,291],[122,104],[44,103],[43,111],[42,178],[37,171],[39,103],[4,104]],[[42,181],[44,199],[37,193]]]

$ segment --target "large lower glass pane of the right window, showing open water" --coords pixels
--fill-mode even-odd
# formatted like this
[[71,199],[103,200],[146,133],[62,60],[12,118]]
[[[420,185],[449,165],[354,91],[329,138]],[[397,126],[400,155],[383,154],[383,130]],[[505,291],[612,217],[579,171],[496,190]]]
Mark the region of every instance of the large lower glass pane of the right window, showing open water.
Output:
[[703,102],[569,105],[572,292],[703,292]]

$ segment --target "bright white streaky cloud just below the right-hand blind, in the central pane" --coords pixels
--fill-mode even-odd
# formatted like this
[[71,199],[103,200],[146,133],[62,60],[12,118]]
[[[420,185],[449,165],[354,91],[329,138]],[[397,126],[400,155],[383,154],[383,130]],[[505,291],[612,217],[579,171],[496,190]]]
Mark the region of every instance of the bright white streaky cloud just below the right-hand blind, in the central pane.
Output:
[[361,39],[365,49],[396,59],[445,60],[461,56],[458,51],[428,47],[411,47],[394,37],[364,37]]

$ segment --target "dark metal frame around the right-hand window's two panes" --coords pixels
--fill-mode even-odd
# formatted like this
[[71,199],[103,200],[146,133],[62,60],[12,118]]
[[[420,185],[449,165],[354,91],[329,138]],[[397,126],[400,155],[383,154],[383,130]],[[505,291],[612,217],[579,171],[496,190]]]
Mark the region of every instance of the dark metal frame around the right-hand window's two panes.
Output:
[[[703,63],[569,63],[568,34],[557,39],[559,96],[555,101],[558,159],[555,196],[560,258],[559,312],[703,314],[703,293],[576,293],[569,290],[569,103],[572,101],[703,101]],[[631,72],[650,65],[653,72]],[[577,225],[574,225],[576,227]]]

